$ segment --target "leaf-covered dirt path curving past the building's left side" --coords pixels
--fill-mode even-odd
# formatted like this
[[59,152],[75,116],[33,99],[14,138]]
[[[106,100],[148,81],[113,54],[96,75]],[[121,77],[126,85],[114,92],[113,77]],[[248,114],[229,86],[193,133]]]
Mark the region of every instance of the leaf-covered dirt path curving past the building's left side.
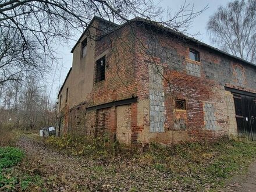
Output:
[[150,168],[69,157],[25,136],[18,145],[35,162],[36,171],[48,178],[53,191],[173,191],[172,176]]

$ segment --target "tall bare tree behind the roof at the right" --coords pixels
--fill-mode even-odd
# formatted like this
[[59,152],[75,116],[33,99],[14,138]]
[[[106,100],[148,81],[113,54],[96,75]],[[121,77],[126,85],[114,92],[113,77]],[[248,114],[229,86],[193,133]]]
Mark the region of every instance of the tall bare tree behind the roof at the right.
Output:
[[210,17],[207,30],[223,51],[256,61],[256,1],[236,0],[220,6]]

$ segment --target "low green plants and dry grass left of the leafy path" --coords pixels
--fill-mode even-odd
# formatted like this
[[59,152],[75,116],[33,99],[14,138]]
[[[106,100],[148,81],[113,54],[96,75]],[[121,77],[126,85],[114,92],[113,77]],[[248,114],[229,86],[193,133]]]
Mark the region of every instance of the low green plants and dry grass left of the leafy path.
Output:
[[0,191],[43,189],[44,180],[35,169],[38,166],[15,147],[22,134],[12,124],[0,126]]

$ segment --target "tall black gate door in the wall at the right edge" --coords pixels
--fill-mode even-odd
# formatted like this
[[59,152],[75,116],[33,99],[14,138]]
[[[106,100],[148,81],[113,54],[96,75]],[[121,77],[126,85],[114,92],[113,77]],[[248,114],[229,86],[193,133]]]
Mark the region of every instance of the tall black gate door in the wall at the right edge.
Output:
[[237,131],[240,137],[256,140],[256,98],[234,94]]

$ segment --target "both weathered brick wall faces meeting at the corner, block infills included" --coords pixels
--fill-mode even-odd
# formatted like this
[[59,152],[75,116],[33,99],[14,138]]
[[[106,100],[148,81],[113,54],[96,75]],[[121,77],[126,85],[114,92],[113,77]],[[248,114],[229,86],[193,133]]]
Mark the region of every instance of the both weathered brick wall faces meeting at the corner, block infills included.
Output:
[[[189,48],[200,52],[200,62],[189,59]],[[225,86],[256,93],[255,67],[143,27],[126,26],[98,39],[94,72],[104,55],[105,80],[95,81],[94,74],[91,93],[66,113],[68,131],[76,136],[109,136],[126,144],[235,136],[234,103]],[[132,97],[138,102],[86,111]],[[175,99],[186,101],[186,108],[175,109]]]

